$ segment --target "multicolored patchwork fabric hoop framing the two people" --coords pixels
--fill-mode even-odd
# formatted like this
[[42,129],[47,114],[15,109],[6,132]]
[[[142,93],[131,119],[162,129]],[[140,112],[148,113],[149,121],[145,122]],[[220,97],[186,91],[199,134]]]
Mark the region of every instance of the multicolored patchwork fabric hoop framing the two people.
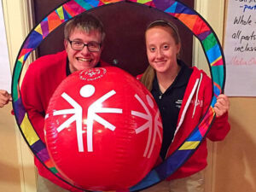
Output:
[[[12,97],[16,122],[33,154],[35,154],[38,160],[40,160],[56,177],[59,177],[62,181],[68,183],[55,169],[52,160],[49,158],[45,144],[38,137],[38,134],[33,129],[32,124],[28,119],[26,109],[24,108],[20,98],[20,75],[27,57],[34,49],[37,49],[38,45],[41,44],[44,38],[46,38],[50,32],[53,32],[58,26],[61,26],[61,24],[67,22],[67,20],[70,20],[89,9],[94,9],[109,3],[120,2],[139,3],[159,9],[166,14],[177,18],[177,20],[180,20],[184,26],[187,26],[201,42],[201,46],[207,57],[213,84],[212,102],[200,123],[168,159],[160,164],[160,166],[155,167],[154,170],[149,172],[140,183],[137,183],[137,185],[128,189],[128,191],[137,191],[146,189],[151,185],[166,179],[166,177],[169,177],[180,166],[182,166],[192,154],[194,154],[196,148],[199,147],[201,141],[207,136],[207,132],[210,130],[215,118],[213,106],[216,103],[217,96],[224,90],[225,62],[223,50],[221,49],[218,38],[215,32],[213,32],[211,26],[209,26],[207,21],[204,20],[201,15],[196,13],[195,10],[188,8],[177,0],[69,0],[47,15],[44,20],[42,20],[38,26],[35,26],[26,37],[15,61],[12,80]],[[71,183],[69,184],[72,185]],[[77,186],[73,187],[78,188]]]

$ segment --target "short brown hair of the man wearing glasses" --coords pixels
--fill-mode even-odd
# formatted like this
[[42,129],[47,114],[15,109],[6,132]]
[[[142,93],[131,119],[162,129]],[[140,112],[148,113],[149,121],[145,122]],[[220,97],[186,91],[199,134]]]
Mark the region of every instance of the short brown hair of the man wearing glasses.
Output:
[[64,38],[68,39],[75,28],[87,33],[97,30],[102,34],[101,43],[104,41],[105,32],[102,21],[98,20],[94,15],[82,14],[74,17],[72,20],[69,20],[64,28]]

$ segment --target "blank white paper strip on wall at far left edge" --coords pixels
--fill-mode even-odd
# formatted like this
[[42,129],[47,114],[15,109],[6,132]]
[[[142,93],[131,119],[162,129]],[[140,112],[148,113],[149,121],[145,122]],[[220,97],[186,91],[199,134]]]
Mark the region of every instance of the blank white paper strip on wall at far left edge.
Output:
[[9,66],[9,55],[3,20],[3,6],[0,0],[0,90],[11,91],[11,71]]

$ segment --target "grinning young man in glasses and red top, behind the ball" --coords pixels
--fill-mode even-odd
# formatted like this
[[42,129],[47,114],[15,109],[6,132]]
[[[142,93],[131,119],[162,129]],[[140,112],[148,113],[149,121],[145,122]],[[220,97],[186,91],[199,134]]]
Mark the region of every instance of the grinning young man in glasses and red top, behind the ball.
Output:
[[[61,81],[82,69],[108,66],[100,61],[105,32],[101,21],[94,16],[83,14],[68,21],[64,36],[65,50],[55,55],[45,55],[32,62],[21,85],[22,102],[43,142],[44,115],[49,99]],[[79,191],[55,177],[37,158],[35,165],[39,173],[38,192]]]

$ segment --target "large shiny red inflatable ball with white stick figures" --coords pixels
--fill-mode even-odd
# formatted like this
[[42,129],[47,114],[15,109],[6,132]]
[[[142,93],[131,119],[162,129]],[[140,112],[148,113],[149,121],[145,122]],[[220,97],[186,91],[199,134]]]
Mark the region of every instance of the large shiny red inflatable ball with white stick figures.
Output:
[[82,189],[128,189],[160,154],[159,109],[143,84],[118,67],[68,76],[50,99],[44,129],[56,169]]

